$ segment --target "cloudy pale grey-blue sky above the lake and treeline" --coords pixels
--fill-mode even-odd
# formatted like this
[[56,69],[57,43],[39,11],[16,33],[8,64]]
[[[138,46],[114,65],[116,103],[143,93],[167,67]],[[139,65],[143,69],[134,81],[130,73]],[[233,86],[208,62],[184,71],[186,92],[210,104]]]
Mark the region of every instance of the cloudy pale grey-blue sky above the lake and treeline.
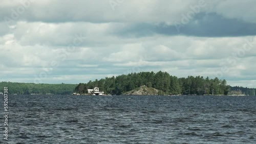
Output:
[[254,0],[0,1],[0,81],[140,71],[256,87]]

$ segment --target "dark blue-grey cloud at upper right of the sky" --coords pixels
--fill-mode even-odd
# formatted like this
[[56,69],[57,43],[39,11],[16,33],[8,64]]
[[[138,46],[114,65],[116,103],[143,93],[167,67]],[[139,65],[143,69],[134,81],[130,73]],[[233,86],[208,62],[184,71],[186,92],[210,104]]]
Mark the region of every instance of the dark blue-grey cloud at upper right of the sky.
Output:
[[[177,25],[178,27],[181,26]],[[244,22],[239,19],[228,19],[216,13],[199,13],[177,30],[176,25],[166,25],[162,22],[158,25],[140,23],[116,31],[119,36],[144,37],[155,34],[167,36],[186,35],[199,37],[236,37],[256,35],[256,24]]]

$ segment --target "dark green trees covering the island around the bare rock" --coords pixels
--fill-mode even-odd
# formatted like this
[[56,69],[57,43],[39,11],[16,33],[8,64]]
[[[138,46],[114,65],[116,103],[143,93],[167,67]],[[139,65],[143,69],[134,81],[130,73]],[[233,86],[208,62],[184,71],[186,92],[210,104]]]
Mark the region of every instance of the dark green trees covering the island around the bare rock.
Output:
[[182,95],[204,95],[204,94],[248,94],[255,95],[255,89],[243,87],[231,87],[227,85],[226,80],[218,78],[209,79],[202,76],[188,76],[187,78],[178,78],[171,76],[167,72],[158,71],[157,73],[141,72],[117,77],[104,78],[88,83],[79,83],[75,88],[77,93],[87,93],[87,89],[99,87],[105,94],[122,94],[133,90],[142,85],[153,87],[159,90],[159,95],[163,94],[182,94]]

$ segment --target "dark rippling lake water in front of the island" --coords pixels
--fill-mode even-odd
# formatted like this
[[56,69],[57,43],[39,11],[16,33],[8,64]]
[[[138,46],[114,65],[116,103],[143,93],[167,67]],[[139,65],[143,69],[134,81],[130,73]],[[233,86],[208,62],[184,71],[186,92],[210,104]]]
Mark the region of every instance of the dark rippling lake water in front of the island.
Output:
[[9,112],[8,143],[256,143],[256,97],[10,95]]

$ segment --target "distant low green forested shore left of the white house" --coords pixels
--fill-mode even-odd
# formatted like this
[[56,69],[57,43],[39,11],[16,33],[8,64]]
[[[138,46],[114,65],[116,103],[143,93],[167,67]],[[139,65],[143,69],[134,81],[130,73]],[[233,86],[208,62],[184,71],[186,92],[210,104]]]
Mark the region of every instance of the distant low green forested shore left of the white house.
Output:
[[[35,84],[35,83],[13,83],[0,82],[0,88],[8,87],[10,94],[71,94],[76,84]],[[80,89],[84,89],[80,88]],[[0,92],[2,90],[0,89]]]

